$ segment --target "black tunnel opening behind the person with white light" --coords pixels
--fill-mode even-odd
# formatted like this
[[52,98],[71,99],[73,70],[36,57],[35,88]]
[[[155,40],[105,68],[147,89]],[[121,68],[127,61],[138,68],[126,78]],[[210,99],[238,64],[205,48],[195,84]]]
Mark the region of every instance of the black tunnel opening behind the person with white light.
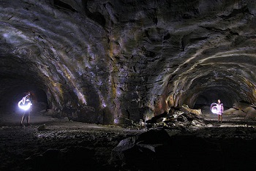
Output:
[[0,112],[19,113],[18,102],[27,92],[34,94],[35,113],[48,108],[46,86],[33,63],[18,56],[1,54],[0,63]]

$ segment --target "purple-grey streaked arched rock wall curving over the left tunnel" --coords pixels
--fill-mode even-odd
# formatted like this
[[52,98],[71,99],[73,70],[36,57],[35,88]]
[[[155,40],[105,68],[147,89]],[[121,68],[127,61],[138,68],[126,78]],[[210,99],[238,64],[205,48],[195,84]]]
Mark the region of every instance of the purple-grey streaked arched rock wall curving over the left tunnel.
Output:
[[[22,4],[14,4],[12,9],[16,10],[1,7],[0,53],[12,56],[6,63],[20,60],[23,65],[13,63],[14,69],[7,71],[7,82],[0,89],[11,86],[8,81],[21,87],[33,85],[45,92],[48,107],[59,115],[91,123],[113,123],[111,115],[115,110],[113,97],[108,96],[111,88],[105,67],[108,60],[101,58],[105,56],[105,31],[84,15],[70,20],[70,15],[77,14],[56,8],[49,13],[52,4],[44,1],[28,4],[25,9]],[[86,27],[78,27],[81,22]]]

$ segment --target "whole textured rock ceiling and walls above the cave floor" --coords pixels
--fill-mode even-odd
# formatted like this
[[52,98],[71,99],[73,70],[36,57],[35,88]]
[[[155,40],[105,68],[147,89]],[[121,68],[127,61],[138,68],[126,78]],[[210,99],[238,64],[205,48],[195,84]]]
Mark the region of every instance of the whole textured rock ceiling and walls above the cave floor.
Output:
[[253,0],[0,0],[0,96],[69,118],[138,121],[170,106],[256,102]]

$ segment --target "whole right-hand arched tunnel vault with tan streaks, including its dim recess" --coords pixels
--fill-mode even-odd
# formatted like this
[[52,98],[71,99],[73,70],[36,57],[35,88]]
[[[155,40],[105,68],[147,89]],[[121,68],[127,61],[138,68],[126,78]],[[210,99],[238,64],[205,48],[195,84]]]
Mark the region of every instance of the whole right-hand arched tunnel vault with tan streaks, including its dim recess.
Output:
[[[167,84],[167,92],[175,97],[174,106],[189,104],[189,107],[194,107],[198,97],[204,97],[206,101],[222,98],[229,107],[239,100],[255,102],[256,83],[252,71],[255,68],[255,49],[237,48],[222,52],[222,48],[218,53],[210,52],[212,48],[200,50],[197,56],[178,66],[176,75],[171,76]],[[213,97],[211,91],[216,91],[219,98]],[[204,94],[212,97],[208,99]]]

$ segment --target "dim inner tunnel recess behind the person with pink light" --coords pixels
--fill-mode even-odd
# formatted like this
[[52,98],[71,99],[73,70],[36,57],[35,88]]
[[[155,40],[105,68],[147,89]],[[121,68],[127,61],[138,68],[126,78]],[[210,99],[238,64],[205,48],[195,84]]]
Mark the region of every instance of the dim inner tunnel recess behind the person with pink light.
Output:
[[[244,100],[247,102],[255,102],[252,94],[253,88],[247,85],[246,79],[242,76],[235,76],[235,78],[221,77],[214,78],[213,74],[206,74],[204,76],[187,80],[184,85],[184,90],[179,98],[181,104],[188,104],[189,107],[194,107],[197,104],[198,98],[204,97],[206,102],[211,104],[217,102],[217,99],[221,99],[225,102],[226,107],[232,107],[233,103]],[[191,83],[189,83],[191,81]],[[197,104],[198,105],[198,104]]]

